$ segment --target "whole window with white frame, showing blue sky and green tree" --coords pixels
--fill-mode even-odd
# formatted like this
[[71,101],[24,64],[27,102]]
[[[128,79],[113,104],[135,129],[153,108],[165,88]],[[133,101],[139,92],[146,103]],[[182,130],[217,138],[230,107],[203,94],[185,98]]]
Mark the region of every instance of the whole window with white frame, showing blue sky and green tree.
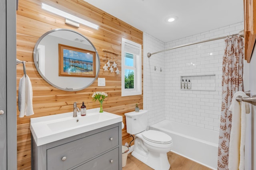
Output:
[[122,38],[122,96],[142,94],[140,44]]

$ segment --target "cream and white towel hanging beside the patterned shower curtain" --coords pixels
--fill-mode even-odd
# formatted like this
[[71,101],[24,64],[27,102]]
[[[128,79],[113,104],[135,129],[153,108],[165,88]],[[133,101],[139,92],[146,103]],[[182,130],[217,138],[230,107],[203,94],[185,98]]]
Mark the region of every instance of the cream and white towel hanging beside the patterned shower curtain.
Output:
[[232,98],[229,110],[232,111],[232,127],[230,132],[229,143],[229,170],[244,170],[244,143],[245,143],[245,129],[246,129],[246,104],[245,102],[238,102],[236,98],[241,96],[246,98],[244,92],[236,92]]

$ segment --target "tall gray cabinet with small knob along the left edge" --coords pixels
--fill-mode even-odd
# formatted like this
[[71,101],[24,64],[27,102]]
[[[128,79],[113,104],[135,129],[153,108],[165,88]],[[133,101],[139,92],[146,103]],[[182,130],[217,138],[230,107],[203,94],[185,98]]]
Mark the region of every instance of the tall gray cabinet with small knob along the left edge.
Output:
[[0,0],[0,21],[0,170],[16,170],[16,0]]

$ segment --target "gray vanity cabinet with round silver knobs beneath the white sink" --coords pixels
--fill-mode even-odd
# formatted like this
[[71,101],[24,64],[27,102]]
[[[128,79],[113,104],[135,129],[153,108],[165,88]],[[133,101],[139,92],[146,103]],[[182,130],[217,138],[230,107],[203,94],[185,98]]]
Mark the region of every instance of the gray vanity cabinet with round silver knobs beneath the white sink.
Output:
[[33,170],[122,170],[121,123],[36,146]]

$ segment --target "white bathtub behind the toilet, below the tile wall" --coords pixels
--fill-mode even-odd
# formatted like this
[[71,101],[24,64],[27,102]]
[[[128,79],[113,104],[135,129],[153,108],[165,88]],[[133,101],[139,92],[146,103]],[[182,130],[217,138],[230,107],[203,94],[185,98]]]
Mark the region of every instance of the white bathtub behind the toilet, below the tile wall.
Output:
[[219,132],[164,120],[150,126],[172,137],[172,152],[217,169]]

